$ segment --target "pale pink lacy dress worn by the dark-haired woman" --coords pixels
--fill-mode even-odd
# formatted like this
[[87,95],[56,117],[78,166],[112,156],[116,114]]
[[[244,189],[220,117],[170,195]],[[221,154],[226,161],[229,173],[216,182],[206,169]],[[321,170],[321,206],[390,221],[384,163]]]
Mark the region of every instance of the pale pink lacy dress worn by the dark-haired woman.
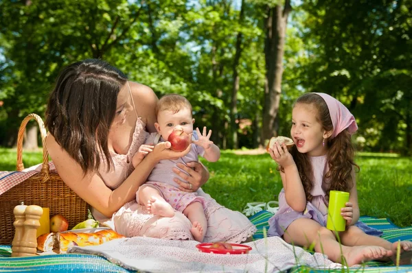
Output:
[[[100,176],[107,187],[115,189],[133,171],[132,158],[148,137],[146,124],[137,119],[133,141],[127,154],[112,153],[115,169],[110,172],[106,170],[104,164],[100,170]],[[198,189],[198,196],[208,200],[205,215],[207,219],[207,233],[205,242],[229,241],[240,243],[251,237],[255,233],[255,226],[238,211],[231,211],[218,204],[209,194]],[[111,226],[117,233],[126,237],[144,236],[162,239],[194,239],[190,233],[189,219],[183,213],[176,212],[174,217],[159,217],[146,213],[144,206],[136,201],[129,202],[113,214],[111,219],[105,219],[99,211],[92,209],[93,217],[96,220]]]

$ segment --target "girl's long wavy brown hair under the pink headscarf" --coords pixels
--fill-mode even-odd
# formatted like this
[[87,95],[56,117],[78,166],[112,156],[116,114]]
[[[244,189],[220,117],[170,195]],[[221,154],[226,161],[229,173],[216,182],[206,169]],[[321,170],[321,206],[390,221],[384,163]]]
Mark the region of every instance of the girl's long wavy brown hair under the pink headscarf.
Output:
[[[321,123],[323,130],[332,131],[333,124],[330,118],[328,105],[323,98],[314,93],[306,93],[301,95],[295,102],[297,104],[311,104],[317,109],[317,121]],[[335,191],[350,191],[354,182],[352,181],[352,167],[359,166],[354,163],[354,147],[350,133],[343,130],[334,139],[325,139],[325,145],[328,145],[328,167],[329,170],[325,174],[325,180],[328,181],[328,192]],[[312,165],[307,154],[301,154],[296,146],[290,148],[290,154],[293,156],[302,184],[304,185],[306,200],[312,201],[313,196],[310,194],[313,184]],[[280,168],[283,171],[283,168]]]

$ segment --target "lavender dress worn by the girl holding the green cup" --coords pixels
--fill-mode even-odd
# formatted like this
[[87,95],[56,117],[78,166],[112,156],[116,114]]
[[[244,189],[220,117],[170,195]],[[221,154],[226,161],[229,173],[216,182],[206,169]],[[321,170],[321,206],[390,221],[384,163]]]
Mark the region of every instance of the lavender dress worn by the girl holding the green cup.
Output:
[[[284,235],[284,230],[299,218],[313,219],[314,221],[326,226],[326,220],[328,219],[328,199],[326,195],[328,190],[326,183],[323,180],[326,172],[328,172],[328,162],[326,156],[309,156],[310,163],[312,163],[314,185],[310,194],[313,196],[312,202],[306,204],[306,209],[303,212],[294,211],[286,202],[284,189],[279,193],[279,210],[271,219],[269,219],[268,236]],[[363,222],[357,222],[355,226],[361,228],[365,233],[369,235],[382,235],[382,231],[376,228],[371,228]]]

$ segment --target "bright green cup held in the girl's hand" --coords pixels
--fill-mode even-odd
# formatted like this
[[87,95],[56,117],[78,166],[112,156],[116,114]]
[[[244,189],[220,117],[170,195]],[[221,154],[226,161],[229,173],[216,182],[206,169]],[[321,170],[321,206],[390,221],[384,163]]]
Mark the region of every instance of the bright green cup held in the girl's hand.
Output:
[[341,215],[341,209],[349,201],[349,193],[346,191],[330,191],[328,222],[326,228],[335,231],[345,231],[346,220]]

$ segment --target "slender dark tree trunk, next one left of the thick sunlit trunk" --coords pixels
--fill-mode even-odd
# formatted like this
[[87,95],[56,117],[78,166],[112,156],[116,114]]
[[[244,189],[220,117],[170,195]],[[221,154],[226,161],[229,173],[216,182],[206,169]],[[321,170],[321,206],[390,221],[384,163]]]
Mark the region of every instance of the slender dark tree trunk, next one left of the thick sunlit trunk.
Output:
[[[239,25],[242,24],[244,19],[244,0],[240,4],[240,15],[239,15]],[[236,54],[235,60],[233,61],[233,87],[232,87],[232,96],[231,96],[231,117],[230,117],[230,127],[231,127],[231,137],[233,149],[238,149],[238,124],[236,123],[236,116],[238,115],[238,91],[239,91],[239,82],[240,77],[238,73],[238,65],[240,60],[240,54],[242,54],[242,32],[238,32],[236,37]]]

